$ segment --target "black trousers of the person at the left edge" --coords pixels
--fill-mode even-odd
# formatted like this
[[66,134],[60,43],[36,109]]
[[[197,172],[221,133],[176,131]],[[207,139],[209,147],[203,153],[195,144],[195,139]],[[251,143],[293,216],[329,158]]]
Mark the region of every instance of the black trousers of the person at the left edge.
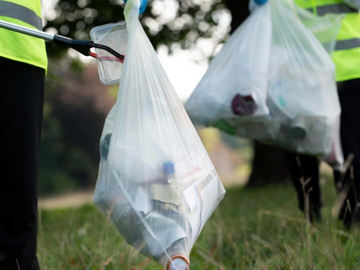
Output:
[[37,178],[44,70],[0,57],[0,269],[38,269]]

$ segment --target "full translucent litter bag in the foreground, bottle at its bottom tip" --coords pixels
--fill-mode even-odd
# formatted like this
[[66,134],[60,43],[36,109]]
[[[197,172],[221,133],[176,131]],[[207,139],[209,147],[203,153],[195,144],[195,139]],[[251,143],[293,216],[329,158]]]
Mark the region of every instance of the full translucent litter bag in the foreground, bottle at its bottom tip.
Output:
[[140,25],[138,0],[128,0],[124,14],[127,50],[101,135],[94,202],[139,252],[188,269],[225,190]]

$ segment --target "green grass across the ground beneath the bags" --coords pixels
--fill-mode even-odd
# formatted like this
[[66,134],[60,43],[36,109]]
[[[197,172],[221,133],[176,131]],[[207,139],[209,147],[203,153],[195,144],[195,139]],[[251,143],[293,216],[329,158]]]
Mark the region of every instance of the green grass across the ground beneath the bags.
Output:
[[[332,182],[322,189],[323,220],[313,225],[291,186],[228,189],[191,250],[191,269],[360,269],[360,233],[332,217]],[[93,205],[41,210],[38,257],[42,269],[162,269]]]

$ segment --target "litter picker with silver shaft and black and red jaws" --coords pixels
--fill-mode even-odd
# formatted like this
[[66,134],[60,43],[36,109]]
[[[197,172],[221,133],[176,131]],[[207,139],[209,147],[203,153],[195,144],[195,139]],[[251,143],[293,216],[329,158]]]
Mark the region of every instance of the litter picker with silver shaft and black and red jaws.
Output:
[[[123,62],[125,57],[123,54],[118,53],[112,48],[102,44],[94,43],[91,40],[78,40],[78,39],[68,38],[59,34],[50,34],[44,31],[35,30],[22,25],[17,25],[15,23],[7,22],[4,20],[0,20],[0,27],[11,31],[31,35],[37,38],[41,38],[44,39],[45,41],[49,41],[55,44],[73,48],[85,56],[92,56],[95,58],[101,58],[104,60],[113,60],[119,62]],[[115,57],[98,56],[96,53],[91,52],[90,48],[98,48],[98,49],[106,50]]]

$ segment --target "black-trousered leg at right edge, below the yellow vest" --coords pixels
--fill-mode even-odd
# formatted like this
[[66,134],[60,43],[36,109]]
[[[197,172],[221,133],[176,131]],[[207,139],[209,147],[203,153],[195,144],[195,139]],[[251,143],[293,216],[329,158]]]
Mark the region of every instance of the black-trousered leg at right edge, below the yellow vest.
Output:
[[[337,89],[341,105],[340,136],[344,158],[350,153],[354,154],[351,168],[339,185],[343,190],[350,187],[339,213],[339,218],[349,225],[360,222],[360,125],[357,123],[360,115],[360,79],[338,82]],[[335,173],[335,177],[337,175]]]

